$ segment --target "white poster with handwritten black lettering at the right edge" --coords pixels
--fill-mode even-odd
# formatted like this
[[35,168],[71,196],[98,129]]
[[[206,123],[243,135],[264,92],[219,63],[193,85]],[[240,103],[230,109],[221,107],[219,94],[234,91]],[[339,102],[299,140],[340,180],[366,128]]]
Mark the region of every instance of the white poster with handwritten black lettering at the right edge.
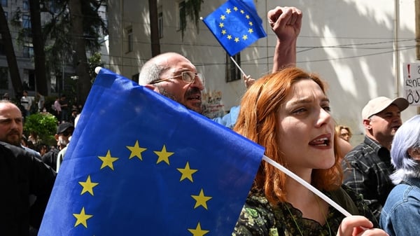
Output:
[[411,106],[420,106],[420,63],[402,64],[404,97]]

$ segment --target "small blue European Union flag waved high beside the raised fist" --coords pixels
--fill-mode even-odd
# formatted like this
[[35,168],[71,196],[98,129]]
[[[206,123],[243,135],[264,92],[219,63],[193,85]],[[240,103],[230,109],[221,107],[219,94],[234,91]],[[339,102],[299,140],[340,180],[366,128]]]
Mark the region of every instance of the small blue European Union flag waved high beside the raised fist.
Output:
[[228,0],[203,22],[230,56],[267,36],[252,0]]

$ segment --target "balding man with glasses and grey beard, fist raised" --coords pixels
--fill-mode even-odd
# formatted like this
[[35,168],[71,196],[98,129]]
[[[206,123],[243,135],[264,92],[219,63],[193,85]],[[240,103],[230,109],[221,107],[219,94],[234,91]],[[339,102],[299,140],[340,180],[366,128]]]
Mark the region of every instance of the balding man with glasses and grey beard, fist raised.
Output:
[[[277,36],[273,70],[294,66],[296,41],[302,25],[302,12],[293,7],[276,7],[270,15],[270,26]],[[151,58],[141,68],[139,84],[173,99],[186,108],[202,113],[204,79],[195,66],[183,55],[163,53]],[[215,121],[232,127],[239,109]],[[233,118],[230,118],[233,116]]]

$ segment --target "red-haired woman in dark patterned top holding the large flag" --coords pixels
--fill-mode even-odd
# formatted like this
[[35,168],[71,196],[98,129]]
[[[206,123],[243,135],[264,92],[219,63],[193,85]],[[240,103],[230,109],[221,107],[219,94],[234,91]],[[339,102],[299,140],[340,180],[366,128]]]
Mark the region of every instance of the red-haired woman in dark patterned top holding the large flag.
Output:
[[290,67],[255,81],[241,101],[234,130],[360,216],[345,217],[281,170],[261,162],[232,235],[386,235],[376,228],[377,220],[360,195],[342,186],[334,126],[325,84],[318,76]]

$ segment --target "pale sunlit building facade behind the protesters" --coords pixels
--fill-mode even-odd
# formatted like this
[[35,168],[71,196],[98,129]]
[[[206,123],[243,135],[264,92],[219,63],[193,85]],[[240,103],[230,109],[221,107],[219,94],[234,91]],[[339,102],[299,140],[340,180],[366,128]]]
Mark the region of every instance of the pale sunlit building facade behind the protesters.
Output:
[[[204,1],[200,16],[209,15],[223,0]],[[206,78],[206,94],[221,97],[223,109],[239,104],[245,92],[239,71],[209,29],[188,22],[182,37],[180,12],[185,1],[158,0],[160,50],[190,59]],[[276,36],[267,24],[267,11],[276,3],[254,0],[268,34],[238,57],[241,69],[253,78],[271,71]],[[282,1],[303,12],[297,41],[297,67],[315,72],[329,84],[332,115],[363,133],[361,110],[368,100],[404,97],[402,63],[416,62],[415,8],[412,0]],[[141,66],[151,58],[148,1],[109,1],[109,69],[137,81]],[[239,77],[238,77],[239,75]],[[239,80],[237,80],[239,78]],[[417,113],[410,106],[403,120]]]

